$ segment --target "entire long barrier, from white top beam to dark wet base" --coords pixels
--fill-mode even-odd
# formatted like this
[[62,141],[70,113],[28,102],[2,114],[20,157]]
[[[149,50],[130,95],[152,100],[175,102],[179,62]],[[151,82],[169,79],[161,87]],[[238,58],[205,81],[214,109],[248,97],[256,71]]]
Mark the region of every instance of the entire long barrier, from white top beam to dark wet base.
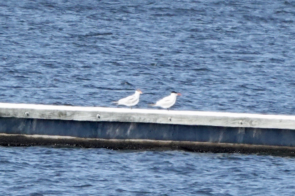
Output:
[[[127,148],[127,144],[130,149],[153,145],[177,149],[173,148],[177,144],[180,149],[198,152],[237,152],[237,146],[251,153],[295,152],[295,116],[289,115],[0,103],[0,133],[0,145],[4,146],[22,145],[21,141],[23,145],[25,141],[31,145],[57,141],[73,145],[84,138],[79,146],[89,147],[89,141],[92,146],[115,149]],[[44,139],[44,135],[50,138]]]

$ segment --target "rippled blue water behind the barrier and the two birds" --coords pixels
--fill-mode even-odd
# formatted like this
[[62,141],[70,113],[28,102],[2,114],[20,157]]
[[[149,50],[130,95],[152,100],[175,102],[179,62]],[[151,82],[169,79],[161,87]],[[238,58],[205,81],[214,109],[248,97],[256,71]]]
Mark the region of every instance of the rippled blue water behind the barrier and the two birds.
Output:
[[[1,1],[2,102],[294,114],[295,1]],[[114,106],[113,106],[114,107]]]

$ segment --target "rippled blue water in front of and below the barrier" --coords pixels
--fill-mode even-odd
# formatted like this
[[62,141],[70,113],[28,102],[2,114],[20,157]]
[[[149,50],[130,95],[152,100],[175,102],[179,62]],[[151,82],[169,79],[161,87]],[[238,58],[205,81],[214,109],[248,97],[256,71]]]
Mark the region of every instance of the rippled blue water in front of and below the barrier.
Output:
[[295,194],[294,158],[46,147],[0,150],[1,195]]

